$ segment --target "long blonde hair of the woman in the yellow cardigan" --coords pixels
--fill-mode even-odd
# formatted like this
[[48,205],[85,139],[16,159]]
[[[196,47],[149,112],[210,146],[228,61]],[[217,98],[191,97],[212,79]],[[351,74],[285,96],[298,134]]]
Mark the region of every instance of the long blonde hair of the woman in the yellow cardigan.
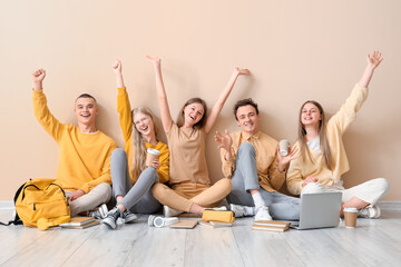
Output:
[[151,119],[151,122],[154,125],[155,129],[155,137],[157,138],[157,127],[154,120],[154,115],[151,113],[150,109],[146,107],[138,107],[133,109],[133,148],[134,148],[134,155],[133,155],[133,170],[131,174],[135,178],[138,178],[140,172],[143,172],[144,169],[146,169],[146,146],[143,135],[136,129],[134,118],[137,113],[144,113],[148,116]]

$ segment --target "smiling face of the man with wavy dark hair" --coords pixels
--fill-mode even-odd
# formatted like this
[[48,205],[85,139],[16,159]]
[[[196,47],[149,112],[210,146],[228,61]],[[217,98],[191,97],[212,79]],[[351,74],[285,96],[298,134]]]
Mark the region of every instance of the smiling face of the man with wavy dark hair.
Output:
[[237,123],[242,131],[253,136],[258,132],[258,120],[260,116],[256,113],[256,109],[251,106],[242,106],[236,111]]

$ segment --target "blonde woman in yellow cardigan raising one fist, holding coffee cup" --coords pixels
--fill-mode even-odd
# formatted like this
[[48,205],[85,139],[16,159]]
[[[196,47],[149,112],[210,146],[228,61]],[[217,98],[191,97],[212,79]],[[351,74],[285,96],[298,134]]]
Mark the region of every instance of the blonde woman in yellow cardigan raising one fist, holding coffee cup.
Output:
[[[104,224],[115,229],[118,218],[124,222],[130,222],[136,219],[134,212],[153,214],[162,207],[153,197],[151,187],[169,180],[169,151],[167,145],[157,139],[157,129],[150,110],[144,107],[130,110],[123,80],[121,61],[117,60],[113,69],[118,87],[117,111],[125,140],[125,149],[114,150],[110,159],[113,196],[117,205],[108,212]],[[146,166],[148,148],[160,152],[159,158],[150,166]]]

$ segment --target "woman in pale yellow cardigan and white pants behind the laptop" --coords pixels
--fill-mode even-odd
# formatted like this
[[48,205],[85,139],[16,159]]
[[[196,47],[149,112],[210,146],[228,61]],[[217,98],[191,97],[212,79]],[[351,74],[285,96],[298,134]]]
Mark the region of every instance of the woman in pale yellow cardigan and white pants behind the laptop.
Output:
[[313,100],[302,105],[300,110],[299,147],[300,157],[291,161],[286,184],[294,195],[342,191],[342,209],[352,207],[360,216],[378,218],[380,209],[375,204],[389,188],[384,178],[376,178],[345,189],[341,176],[350,169],[342,136],[355,119],[356,112],[368,97],[368,86],[374,69],[383,60],[379,51],[366,57],[368,66],[361,80],[340,110],[325,123],[322,106]]

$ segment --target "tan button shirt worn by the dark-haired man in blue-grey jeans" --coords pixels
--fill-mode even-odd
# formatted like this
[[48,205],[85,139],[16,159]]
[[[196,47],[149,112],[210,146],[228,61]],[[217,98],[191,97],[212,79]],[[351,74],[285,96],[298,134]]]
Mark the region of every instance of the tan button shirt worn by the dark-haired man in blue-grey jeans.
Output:
[[232,178],[235,170],[235,159],[238,147],[243,142],[251,142],[256,150],[256,168],[260,185],[267,191],[278,190],[285,181],[285,171],[278,170],[277,145],[278,142],[258,131],[253,136],[248,136],[243,131],[231,134],[233,138],[232,160],[226,160],[225,150],[221,149],[221,158],[223,162],[223,174],[227,178]]

